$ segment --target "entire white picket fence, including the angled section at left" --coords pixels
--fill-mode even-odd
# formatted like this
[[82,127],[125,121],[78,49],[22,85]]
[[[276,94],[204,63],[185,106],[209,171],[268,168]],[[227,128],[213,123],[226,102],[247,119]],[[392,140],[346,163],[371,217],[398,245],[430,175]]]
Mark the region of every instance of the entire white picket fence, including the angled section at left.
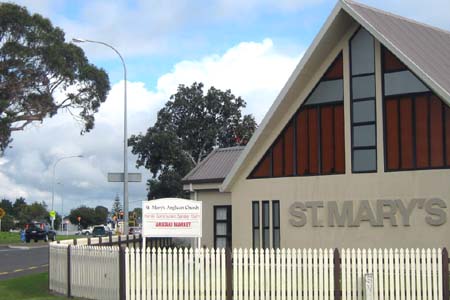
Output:
[[67,294],[70,277],[86,299],[441,300],[448,288],[441,249],[68,247],[50,245],[49,288]]

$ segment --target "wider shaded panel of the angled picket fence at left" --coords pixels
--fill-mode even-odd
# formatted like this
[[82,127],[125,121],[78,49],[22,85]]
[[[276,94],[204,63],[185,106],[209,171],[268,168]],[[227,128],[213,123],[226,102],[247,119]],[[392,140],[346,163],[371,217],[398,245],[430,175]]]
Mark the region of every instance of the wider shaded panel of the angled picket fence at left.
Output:
[[71,295],[119,299],[119,247],[71,247]]

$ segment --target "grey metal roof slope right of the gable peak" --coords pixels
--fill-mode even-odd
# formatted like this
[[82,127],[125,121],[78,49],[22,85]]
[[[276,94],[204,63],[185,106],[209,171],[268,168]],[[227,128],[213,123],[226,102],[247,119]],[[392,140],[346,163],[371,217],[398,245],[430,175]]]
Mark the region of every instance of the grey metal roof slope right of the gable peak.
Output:
[[409,60],[403,61],[407,66],[418,68],[429,80],[450,94],[449,31],[353,1],[346,0],[344,3],[367,22],[363,26],[372,27],[367,29],[374,29],[385,39],[381,40],[385,46],[394,47],[394,53],[404,55]]

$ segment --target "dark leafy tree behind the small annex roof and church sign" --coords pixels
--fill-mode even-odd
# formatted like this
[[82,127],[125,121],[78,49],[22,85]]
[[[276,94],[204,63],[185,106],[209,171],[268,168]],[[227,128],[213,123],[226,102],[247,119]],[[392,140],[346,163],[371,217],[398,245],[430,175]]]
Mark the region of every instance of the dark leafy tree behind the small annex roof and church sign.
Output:
[[129,139],[136,165],[152,174],[148,198],[186,196],[181,179],[214,147],[245,145],[256,128],[253,116],[242,116],[245,105],[230,90],[205,94],[202,83],[180,85],[155,125]]

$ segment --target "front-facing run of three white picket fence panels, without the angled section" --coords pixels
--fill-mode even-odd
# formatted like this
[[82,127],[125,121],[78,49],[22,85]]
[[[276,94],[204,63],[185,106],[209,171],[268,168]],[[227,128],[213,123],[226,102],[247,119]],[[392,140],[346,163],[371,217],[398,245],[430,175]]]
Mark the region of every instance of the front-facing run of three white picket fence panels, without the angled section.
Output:
[[[343,300],[440,300],[441,249],[343,249],[339,294]],[[334,300],[332,249],[224,250],[126,249],[126,299],[226,299],[232,276],[236,300]],[[365,290],[366,275],[372,285]]]

